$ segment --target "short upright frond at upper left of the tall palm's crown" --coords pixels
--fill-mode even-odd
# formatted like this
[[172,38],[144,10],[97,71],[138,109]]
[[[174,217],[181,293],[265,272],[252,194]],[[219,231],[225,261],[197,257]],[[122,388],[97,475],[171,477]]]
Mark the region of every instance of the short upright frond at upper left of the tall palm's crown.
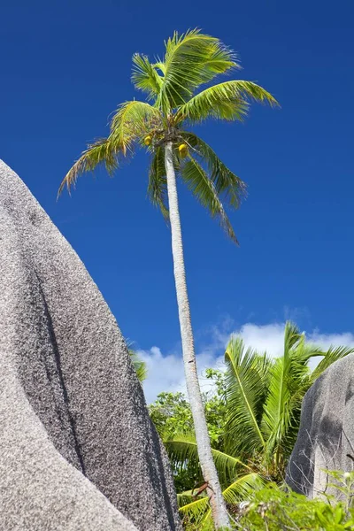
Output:
[[151,65],[147,56],[135,53],[133,56],[132,81],[136,89],[142,90],[148,98],[156,99],[160,92],[163,79],[158,74],[155,65]]

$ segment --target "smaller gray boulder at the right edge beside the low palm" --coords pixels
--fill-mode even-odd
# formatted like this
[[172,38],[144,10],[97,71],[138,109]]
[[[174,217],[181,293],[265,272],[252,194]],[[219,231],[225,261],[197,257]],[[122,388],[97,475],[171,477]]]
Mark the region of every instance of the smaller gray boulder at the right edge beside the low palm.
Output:
[[338,495],[328,486],[324,470],[350,472],[353,465],[354,354],[350,354],[328,367],[304,396],[286,481],[296,492],[309,497]]

